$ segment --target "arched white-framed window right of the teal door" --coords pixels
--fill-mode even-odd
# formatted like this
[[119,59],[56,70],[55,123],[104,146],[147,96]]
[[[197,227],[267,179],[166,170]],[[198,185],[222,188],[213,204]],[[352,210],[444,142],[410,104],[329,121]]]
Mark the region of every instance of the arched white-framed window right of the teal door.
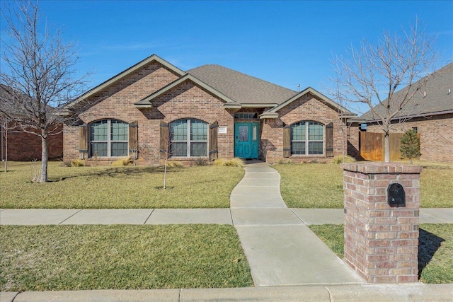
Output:
[[302,121],[291,125],[291,154],[323,154],[323,124]]

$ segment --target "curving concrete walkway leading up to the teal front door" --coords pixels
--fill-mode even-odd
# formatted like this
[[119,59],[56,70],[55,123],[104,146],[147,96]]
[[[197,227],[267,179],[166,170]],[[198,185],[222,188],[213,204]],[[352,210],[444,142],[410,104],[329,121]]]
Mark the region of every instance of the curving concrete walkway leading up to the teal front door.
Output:
[[362,282],[286,207],[275,169],[253,163],[245,170],[231,192],[231,216],[255,286]]

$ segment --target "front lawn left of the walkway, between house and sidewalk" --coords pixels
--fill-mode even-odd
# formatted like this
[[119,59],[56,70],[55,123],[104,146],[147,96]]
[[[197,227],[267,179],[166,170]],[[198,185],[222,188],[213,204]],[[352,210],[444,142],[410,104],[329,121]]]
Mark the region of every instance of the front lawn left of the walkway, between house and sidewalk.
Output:
[[[35,163],[34,165],[39,165]],[[49,163],[50,182],[32,183],[32,163],[9,163],[0,173],[3,209],[228,208],[243,168],[195,166],[60,167]]]

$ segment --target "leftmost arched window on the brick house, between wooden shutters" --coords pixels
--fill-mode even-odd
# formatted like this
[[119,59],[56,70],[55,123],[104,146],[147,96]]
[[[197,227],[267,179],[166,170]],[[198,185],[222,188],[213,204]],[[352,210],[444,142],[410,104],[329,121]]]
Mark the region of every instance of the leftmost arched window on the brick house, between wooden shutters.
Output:
[[129,124],[120,120],[99,120],[90,124],[90,156],[127,156]]

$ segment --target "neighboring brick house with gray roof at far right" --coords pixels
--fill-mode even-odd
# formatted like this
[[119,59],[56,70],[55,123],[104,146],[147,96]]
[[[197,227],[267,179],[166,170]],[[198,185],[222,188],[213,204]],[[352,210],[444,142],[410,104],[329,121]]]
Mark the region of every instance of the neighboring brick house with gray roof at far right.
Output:
[[[407,89],[401,89],[395,97]],[[359,120],[367,124],[367,132],[382,132],[371,110]],[[408,129],[420,134],[420,159],[453,163],[453,63],[430,74],[425,87],[392,120],[392,132]]]

